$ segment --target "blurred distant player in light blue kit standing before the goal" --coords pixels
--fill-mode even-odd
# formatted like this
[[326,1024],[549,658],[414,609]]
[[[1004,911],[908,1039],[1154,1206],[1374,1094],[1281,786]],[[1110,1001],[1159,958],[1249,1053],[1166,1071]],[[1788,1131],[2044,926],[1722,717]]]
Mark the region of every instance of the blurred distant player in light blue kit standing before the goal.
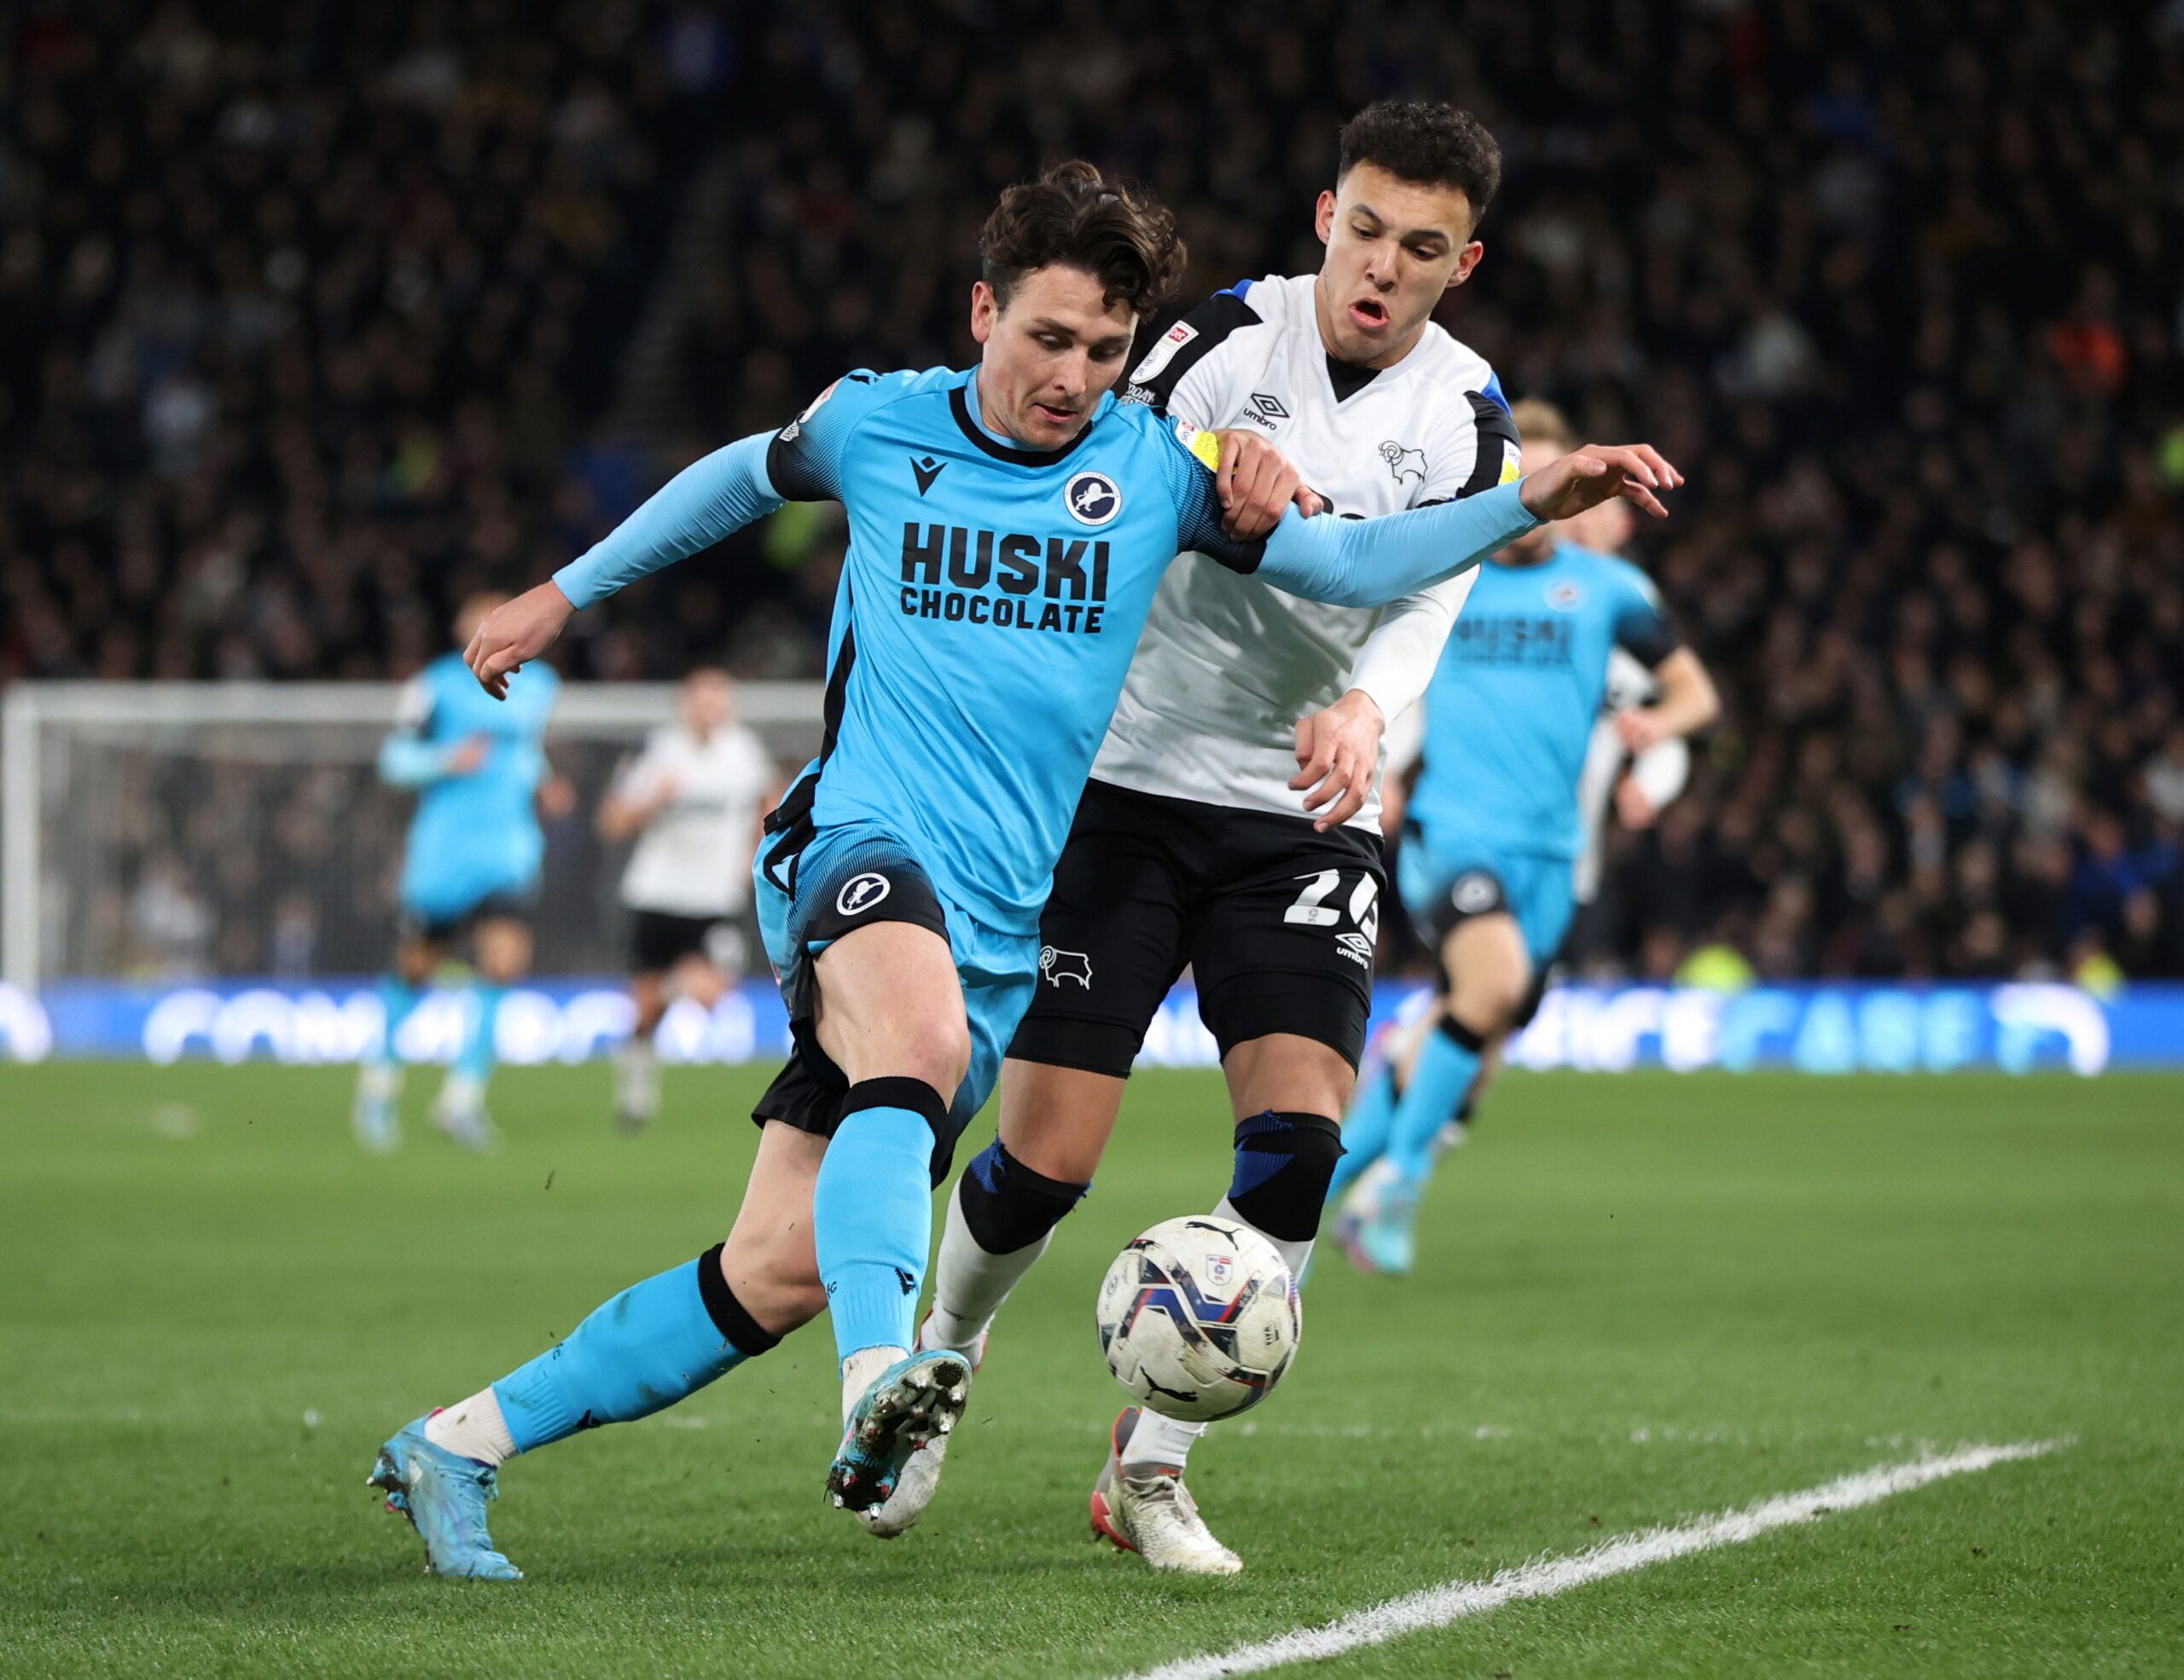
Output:
[[[467,646],[502,602],[505,596],[463,602],[459,641]],[[417,816],[402,857],[393,967],[380,977],[387,1032],[356,1082],[356,1139],[373,1154],[402,1141],[395,1034],[465,932],[474,969],[463,995],[463,1043],[432,1121],[465,1148],[491,1145],[485,1087],[494,1076],[500,997],[531,969],[529,903],[546,855],[539,801],[566,799],[539,744],[559,692],[553,668],[535,665],[509,685],[507,705],[496,705],[478,692],[459,652],[441,655],[402,689],[395,731],[380,746],[380,779],[415,788]]]

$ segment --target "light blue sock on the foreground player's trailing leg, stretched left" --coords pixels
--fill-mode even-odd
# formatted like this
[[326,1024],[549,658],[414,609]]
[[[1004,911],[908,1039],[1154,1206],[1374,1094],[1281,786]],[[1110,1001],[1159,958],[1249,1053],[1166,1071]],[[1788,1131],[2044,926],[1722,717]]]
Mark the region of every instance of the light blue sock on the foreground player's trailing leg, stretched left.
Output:
[[[747,1335],[764,1342],[758,1348],[727,1340],[708,1305],[705,1268],[719,1281],[719,1248],[622,1289],[557,1346],[494,1383],[515,1451],[603,1423],[649,1418],[773,1346],[775,1337],[762,1331]],[[714,1294],[734,1303],[727,1283]]]

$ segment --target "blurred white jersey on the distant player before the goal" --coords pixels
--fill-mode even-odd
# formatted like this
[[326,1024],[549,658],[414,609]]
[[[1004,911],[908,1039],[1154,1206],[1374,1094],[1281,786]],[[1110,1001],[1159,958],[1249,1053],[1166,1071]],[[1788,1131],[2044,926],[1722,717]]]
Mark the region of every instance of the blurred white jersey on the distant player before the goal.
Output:
[[673,799],[644,825],[622,871],[622,903],[670,916],[732,916],[751,899],[758,812],[773,785],[773,761],[740,724],[701,742],[684,724],[655,729],[620,772],[614,792]]

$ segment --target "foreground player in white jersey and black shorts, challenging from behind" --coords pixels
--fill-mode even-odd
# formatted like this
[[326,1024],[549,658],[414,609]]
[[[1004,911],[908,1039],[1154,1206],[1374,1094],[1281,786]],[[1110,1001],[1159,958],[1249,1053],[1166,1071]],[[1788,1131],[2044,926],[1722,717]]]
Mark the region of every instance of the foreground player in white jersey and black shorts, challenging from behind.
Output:
[[[1431,319],[1479,262],[1498,181],[1494,137],[1468,113],[1365,109],[1319,196],[1321,271],[1210,297],[1138,364],[1129,399],[1262,434],[1341,517],[1507,482],[1518,439],[1494,371]],[[994,1311],[1090,1189],[1186,964],[1236,1124],[1219,1211],[1304,1270],[1372,1004],[1380,731],[1424,692],[1470,583],[1358,611],[1254,589],[1203,556],[1168,572],[1055,868],[1000,1137],[948,1198],[922,1346],[983,1355]],[[1201,1429],[1125,1407],[1092,1523],[1158,1569],[1236,1573],[1182,1486]],[[917,1521],[943,1447],[911,1457],[867,1527]]]

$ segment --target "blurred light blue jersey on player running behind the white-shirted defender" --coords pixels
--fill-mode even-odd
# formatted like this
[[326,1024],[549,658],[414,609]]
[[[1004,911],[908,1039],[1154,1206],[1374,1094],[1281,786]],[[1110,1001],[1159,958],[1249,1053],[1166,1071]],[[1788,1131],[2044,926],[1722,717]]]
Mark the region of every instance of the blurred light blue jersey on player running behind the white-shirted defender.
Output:
[[1540,565],[1479,567],[1426,687],[1409,823],[1431,851],[1487,844],[1568,862],[1583,849],[1577,779],[1607,657],[1675,652],[1660,596],[1627,561],[1559,543]]

